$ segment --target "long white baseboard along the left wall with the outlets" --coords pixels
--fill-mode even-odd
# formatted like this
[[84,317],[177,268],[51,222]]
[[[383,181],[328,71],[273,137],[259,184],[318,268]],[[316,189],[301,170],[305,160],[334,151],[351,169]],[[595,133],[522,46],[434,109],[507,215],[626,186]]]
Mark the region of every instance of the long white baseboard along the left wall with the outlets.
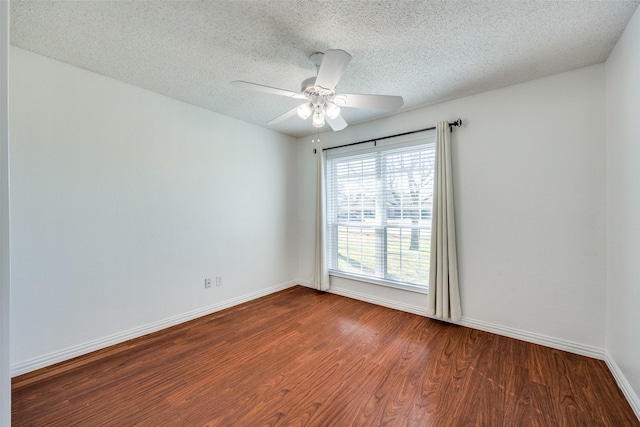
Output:
[[33,359],[29,359],[24,362],[19,362],[12,365],[11,377],[16,377],[18,375],[26,374],[27,372],[35,371],[36,369],[64,362],[65,360],[73,359],[74,357],[82,356],[84,354],[91,353],[92,351],[101,350],[111,345],[120,344],[130,339],[139,338],[143,335],[147,335],[161,329],[169,328],[180,323],[188,322],[189,320],[197,319],[198,317],[206,316],[208,314],[224,310],[225,308],[233,307],[235,305],[242,304],[256,298],[282,291],[297,284],[297,280],[290,280],[288,282],[260,289],[259,291],[251,292],[245,295],[228,299],[226,301],[221,301],[213,305],[198,308],[187,313],[172,316],[167,319],[159,320],[157,322],[149,323],[137,328],[129,329],[127,331],[118,332],[104,338],[99,338],[83,344],[68,347],[63,350],[45,354],[44,356],[34,357]]

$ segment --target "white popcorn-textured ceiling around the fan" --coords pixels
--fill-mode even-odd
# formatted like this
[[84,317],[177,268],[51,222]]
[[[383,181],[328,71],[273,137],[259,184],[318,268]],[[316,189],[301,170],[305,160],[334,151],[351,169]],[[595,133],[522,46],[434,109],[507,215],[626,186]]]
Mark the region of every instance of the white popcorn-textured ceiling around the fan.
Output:
[[[231,81],[297,92],[309,55],[344,49],[337,91],[401,95],[403,111],[604,62],[638,1],[10,4],[15,46],[266,127],[300,101]],[[343,109],[350,124],[388,114]],[[270,128],[314,132],[297,117]]]

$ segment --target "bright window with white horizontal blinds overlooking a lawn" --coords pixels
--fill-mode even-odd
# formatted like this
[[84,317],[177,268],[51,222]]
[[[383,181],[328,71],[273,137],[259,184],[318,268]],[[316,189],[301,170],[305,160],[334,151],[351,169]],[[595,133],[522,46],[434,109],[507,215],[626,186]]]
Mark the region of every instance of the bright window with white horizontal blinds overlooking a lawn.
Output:
[[327,159],[329,271],[427,290],[435,144]]

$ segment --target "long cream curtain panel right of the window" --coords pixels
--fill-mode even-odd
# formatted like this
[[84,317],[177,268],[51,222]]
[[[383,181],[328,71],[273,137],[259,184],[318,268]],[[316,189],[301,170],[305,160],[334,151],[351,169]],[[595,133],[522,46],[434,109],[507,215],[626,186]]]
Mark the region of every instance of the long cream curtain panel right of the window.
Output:
[[431,221],[427,314],[437,319],[457,322],[461,319],[462,312],[453,215],[451,130],[446,121],[436,124],[436,160]]

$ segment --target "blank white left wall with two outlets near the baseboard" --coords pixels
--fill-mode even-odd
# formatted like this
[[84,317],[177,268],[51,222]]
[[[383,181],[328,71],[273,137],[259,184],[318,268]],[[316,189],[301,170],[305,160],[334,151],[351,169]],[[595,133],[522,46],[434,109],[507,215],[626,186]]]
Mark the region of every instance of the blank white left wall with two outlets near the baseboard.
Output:
[[10,89],[14,374],[296,277],[294,138],[13,47]]

